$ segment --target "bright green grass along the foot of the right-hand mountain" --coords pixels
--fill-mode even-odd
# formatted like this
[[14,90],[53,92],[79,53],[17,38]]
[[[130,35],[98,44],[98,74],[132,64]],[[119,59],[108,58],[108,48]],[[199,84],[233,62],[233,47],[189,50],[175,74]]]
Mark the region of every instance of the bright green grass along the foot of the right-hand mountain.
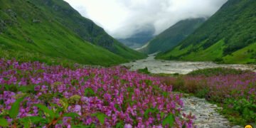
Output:
[[[159,54],[156,58],[169,59],[169,60],[189,60],[189,61],[213,61],[215,63],[240,63],[240,64],[255,64],[256,63],[256,43],[252,43],[250,46],[241,48],[229,55],[223,56],[223,49],[225,48],[225,42],[223,40],[218,41],[213,46],[203,50],[201,48],[203,43],[198,46],[190,46],[179,50],[179,47],[174,48],[167,54]],[[197,48],[196,52],[189,53],[188,51]]]

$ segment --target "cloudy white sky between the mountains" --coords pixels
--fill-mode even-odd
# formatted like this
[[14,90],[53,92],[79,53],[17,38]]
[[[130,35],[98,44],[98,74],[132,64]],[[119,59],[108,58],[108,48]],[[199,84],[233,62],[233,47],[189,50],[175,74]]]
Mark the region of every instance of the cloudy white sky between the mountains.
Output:
[[186,18],[208,18],[228,0],[65,0],[114,38],[154,28],[161,33]]

